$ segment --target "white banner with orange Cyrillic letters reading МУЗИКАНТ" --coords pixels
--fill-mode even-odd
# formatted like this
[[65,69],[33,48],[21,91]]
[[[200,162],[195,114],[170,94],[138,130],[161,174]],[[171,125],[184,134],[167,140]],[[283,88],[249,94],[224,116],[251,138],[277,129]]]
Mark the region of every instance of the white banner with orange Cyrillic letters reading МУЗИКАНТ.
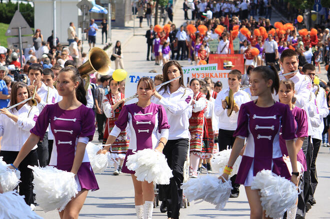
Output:
[[197,78],[203,80],[205,77],[209,77],[213,82],[220,81],[222,83],[222,89],[228,87],[228,73],[230,70],[216,70],[216,71],[191,71],[191,79]]

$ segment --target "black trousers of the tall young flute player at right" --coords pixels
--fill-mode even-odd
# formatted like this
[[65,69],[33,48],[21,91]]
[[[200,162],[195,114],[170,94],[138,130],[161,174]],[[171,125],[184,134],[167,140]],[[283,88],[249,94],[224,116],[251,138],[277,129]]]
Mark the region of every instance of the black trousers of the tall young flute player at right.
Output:
[[301,189],[300,194],[298,194],[298,204],[296,214],[304,216],[306,213],[305,203],[309,199],[309,189],[310,189],[310,164],[313,155],[313,144],[311,143],[311,137],[305,138],[302,143],[302,151],[306,157],[307,170],[303,172],[301,177],[303,180],[303,189]]

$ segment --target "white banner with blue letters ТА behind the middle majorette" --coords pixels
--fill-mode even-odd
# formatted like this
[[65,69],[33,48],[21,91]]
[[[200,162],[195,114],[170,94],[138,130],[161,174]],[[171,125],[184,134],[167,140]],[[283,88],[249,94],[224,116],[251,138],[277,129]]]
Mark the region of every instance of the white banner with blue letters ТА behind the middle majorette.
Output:
[[[158,74],[159,73],[149,73],[149,72],[127,73],[127,77],[125,78],[125,98],[128,98],[128,97],[136,94],[137,83],[138,83],[138,80],[140,80],[140,78],[149,77],[152,80],[154,80],[154,77]],[[136,102],[137,102],[137,98],[134,98],[132,100],[125,102],[125,105],[136,103]]]

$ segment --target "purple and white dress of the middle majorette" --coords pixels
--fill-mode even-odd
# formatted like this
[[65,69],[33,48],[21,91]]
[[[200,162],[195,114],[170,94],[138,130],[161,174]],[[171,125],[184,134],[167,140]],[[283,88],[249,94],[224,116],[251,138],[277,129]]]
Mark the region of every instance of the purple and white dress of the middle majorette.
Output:
[[130,141],[121,172],[134,174],[135,172],[126,166],[127,156],[138,150],[154,149],[159,142],[158,133],[160,133],[159,139],[161,137],[168,139],[169,125],[165,109],[154,103],[144,108],[137,106],[136,103],[125,105],[121,109],[110,135],[117,136],[126,128],[127,123],[130,130]]

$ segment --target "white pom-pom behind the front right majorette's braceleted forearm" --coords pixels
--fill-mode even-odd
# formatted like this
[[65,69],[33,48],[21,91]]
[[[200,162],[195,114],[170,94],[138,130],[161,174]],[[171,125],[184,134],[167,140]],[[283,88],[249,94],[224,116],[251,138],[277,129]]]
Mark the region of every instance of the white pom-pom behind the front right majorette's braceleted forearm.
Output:
[[[213,158],[211,159],[212,168],[214,170],[218,170],[219,172],[222,172],[225,165],[228,164],[230,153],[231,153],[231,149],[226,149],[213,154]],[[232,171],[229,176],[233,176],[237,174],[241,160],[242,160],[242,156],[239,155],[234,165],[232,166]]]

